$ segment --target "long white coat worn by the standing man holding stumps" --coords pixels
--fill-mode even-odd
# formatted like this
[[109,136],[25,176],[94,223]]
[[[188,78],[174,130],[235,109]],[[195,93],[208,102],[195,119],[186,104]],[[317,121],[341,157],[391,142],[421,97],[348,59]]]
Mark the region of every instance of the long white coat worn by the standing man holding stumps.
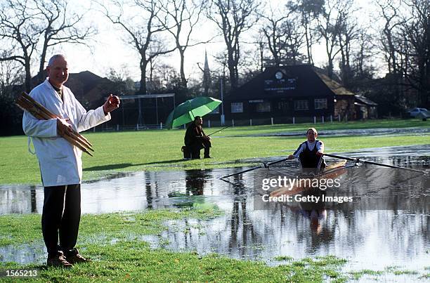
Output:
[[[30,96],[53,114],[69,118],[74,130],[80,132],[110,120],[103,107],[86,112],[70,88],[63,86],[63,99],[48,82],[35,87]],[[79,184],[82,181],[82,151],[57,135],[57,120],[39,120],[25,111],[22,129],[33,140],[44,187]]]

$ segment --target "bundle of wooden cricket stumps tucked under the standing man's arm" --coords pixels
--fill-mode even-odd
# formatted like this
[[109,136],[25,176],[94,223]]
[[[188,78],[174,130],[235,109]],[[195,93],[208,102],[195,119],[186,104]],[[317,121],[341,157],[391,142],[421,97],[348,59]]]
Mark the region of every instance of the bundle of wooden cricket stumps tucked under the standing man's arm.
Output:
[[[20,96],[18,96],[15,104],[18,105],[18,107],[20,107],[22,110],[30,112],[30,114],[39,120],[61,118],[47,110],[43,105],[38,103],[25,92],[22,92]],[[92,152],[94,151],[92,148],[93,145],[91,145],[91,143],[77,131],[66,131],[66,133],[63,134],[63,138],[65,138],[65,140],[67,140],[72,145],[78,147],[79,150],[82,150],[83,152],[93,156],[93,154],[89,152],[89,150]]]

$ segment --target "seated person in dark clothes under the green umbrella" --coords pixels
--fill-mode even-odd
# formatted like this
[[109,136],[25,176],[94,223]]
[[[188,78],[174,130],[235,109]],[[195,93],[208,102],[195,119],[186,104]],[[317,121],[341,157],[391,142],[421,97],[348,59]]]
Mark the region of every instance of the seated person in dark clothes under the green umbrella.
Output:
[[196,116],[193,123],[188,126],[185,133],[185,146],[191,152],[191,158],[199,159],[200,150],[204,148],[204,158],[211,158],[209,156],[209,148],[211,147],[211,141],[208,136],[204,134],[202,129],[203,119],[200,116]]

